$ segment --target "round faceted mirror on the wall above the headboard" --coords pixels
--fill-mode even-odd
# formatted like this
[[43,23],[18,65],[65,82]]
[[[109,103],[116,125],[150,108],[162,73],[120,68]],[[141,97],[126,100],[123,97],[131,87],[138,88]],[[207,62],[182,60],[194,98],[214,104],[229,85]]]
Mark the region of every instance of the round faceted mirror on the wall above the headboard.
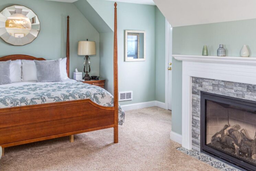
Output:
[[22,46],[38,36],[40,22],[29,8],[13,5],[0,12],[0,37],[7,43]]

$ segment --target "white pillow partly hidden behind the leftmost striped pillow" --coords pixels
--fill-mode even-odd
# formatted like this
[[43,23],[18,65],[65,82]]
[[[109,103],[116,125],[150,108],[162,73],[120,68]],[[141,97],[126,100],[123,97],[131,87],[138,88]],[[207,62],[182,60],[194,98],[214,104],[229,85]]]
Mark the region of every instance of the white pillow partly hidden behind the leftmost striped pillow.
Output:
[[10,79],[12,82],[21,82],[21,60],[11,62]]

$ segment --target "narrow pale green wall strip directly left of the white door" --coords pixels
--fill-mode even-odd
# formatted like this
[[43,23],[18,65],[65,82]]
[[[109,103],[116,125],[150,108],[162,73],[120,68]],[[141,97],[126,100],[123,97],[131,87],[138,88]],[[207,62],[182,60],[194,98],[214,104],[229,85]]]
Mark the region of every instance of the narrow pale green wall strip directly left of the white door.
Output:
[[156,100],[165,102],[165,17],[156,7]]

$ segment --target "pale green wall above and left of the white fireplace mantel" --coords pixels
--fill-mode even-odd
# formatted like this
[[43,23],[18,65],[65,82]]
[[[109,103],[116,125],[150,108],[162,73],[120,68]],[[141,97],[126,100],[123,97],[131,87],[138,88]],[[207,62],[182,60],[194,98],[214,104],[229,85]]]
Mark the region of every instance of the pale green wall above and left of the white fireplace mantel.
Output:
[[[219,44],[224,44],[228,56],[240,56],[243,44],[256,56],[256,19],[182,26],[172,28],[173,54],[201,55],[207,45],[209,55],[216,56]],[[175,59],[172,70],[172,131],[181,134],[182,62]]]

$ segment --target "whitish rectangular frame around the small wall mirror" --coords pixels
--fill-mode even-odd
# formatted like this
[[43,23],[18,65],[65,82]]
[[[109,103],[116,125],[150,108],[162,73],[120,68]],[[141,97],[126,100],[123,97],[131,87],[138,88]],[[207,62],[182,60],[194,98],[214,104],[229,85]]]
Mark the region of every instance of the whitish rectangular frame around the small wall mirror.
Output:
[[[144,34],[144,57],[143,58],[138,58],[138,59],[128,59],[127,55],[127,37],[128,33],[133,33],[133,34]],[[140,43],[138,42],[138,49],[140,49]],[[140,51],[138,50],[138,56],[140,56]],[[141,31],[141,30],[125,30],[125,62],[134,62],[134,61],[146,61],[146,31]]]

